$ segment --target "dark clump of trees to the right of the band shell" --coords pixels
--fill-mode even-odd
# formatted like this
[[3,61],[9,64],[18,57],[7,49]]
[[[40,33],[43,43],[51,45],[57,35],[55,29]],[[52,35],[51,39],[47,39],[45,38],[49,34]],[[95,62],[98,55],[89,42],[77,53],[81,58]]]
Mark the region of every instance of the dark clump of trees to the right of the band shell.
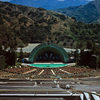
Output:
[[91,40],[86,42],[86,47],[79,43],[80,53],[78,49],[74,52],[76,64],[80,66],[88,66],[90,68],[100,68],[100,45],[93,43]]

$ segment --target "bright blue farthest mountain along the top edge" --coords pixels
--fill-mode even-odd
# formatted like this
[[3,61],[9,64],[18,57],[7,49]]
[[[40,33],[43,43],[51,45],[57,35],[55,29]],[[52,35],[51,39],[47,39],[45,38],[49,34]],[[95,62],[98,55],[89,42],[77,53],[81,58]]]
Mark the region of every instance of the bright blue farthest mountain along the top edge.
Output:
[[11,0],[11,3],[31,7],[42,7],[47,10],[65,8],[69,6],[85,5],[89,0]]

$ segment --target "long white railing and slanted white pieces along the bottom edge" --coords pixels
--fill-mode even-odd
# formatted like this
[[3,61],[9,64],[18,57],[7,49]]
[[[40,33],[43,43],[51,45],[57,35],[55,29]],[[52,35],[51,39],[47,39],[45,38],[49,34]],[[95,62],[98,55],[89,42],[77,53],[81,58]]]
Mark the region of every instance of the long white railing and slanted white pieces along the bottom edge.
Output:
[[[35,98],[64,98],[65,100],[100,100],[96,92],[83,94],[0,94],[0,97],[35,97]],[[77,99],[76,99],[77,98]]]

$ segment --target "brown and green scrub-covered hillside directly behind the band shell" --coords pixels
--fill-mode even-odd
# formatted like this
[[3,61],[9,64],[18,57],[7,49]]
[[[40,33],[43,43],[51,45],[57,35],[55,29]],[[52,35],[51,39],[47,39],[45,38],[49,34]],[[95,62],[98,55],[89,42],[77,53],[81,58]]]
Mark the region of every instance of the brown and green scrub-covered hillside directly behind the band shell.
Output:
[[74,17],[44,8],[0,2],[0,47],[54,42],[64,47],[84,47],[87,40],[100,43],[100,24],[77,22]]

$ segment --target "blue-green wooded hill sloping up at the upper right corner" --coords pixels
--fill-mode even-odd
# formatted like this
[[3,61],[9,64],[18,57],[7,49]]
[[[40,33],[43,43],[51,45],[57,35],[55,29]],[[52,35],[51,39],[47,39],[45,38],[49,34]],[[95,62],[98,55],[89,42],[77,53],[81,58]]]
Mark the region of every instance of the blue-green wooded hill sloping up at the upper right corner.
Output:
[[82,6],[70,6],[55,10],[64,15],[75,17],[84,23],[100,23],[100,0],[91,1]]

